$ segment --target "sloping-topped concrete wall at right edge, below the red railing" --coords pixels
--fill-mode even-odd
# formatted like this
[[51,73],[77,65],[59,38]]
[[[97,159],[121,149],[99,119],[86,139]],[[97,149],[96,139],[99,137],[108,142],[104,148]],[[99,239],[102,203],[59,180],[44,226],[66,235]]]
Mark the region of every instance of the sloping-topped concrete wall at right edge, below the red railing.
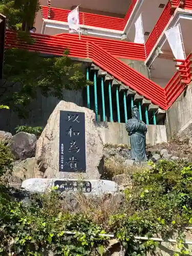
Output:
[[167,138],[180,134],[181,136],[188,133],[188,128],[192,123],[192,83],[179,96],[167,111],[165,121]]

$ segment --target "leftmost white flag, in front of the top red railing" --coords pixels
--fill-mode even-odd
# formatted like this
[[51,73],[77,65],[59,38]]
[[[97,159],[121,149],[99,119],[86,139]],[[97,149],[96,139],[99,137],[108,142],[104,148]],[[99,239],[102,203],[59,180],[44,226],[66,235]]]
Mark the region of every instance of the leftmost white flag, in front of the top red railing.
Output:
[[68,14],[69,32],[80,33],[79,29],[79,8],[78,6]]

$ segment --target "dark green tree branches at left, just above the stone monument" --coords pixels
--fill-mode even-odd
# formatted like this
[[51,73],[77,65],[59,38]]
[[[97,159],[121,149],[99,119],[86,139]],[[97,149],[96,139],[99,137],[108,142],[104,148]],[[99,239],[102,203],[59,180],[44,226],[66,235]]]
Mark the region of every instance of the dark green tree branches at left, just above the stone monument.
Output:
[[13,111],[21,109],[23,117],[26,106],[39,93],[62,99],[63,89],[79,90],[92,84],[83,74],[81,64],[74,63],[68,52],[59,58],[46,58],[19,49],[6,50],[4,79],[1,102]]

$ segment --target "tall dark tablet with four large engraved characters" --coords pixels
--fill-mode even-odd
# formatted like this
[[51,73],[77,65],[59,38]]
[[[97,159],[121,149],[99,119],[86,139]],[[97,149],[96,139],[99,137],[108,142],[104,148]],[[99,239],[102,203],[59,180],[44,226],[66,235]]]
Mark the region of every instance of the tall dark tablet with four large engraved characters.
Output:
[[59,172],[86,173],[86,136],[83,112],[60,111]]

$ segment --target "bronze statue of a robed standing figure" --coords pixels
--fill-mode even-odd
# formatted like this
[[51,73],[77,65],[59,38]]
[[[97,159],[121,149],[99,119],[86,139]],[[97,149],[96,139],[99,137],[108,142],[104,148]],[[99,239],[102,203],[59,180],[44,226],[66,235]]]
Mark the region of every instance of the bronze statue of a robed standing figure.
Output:
[[139,120],[138,114],[139,110],[135,105],[132,109],[132,119],[127,120],[125,127],[130,136],[131,158],[136,162],[144,162],[147,160],[145,154],[147,127],[143,121]]

